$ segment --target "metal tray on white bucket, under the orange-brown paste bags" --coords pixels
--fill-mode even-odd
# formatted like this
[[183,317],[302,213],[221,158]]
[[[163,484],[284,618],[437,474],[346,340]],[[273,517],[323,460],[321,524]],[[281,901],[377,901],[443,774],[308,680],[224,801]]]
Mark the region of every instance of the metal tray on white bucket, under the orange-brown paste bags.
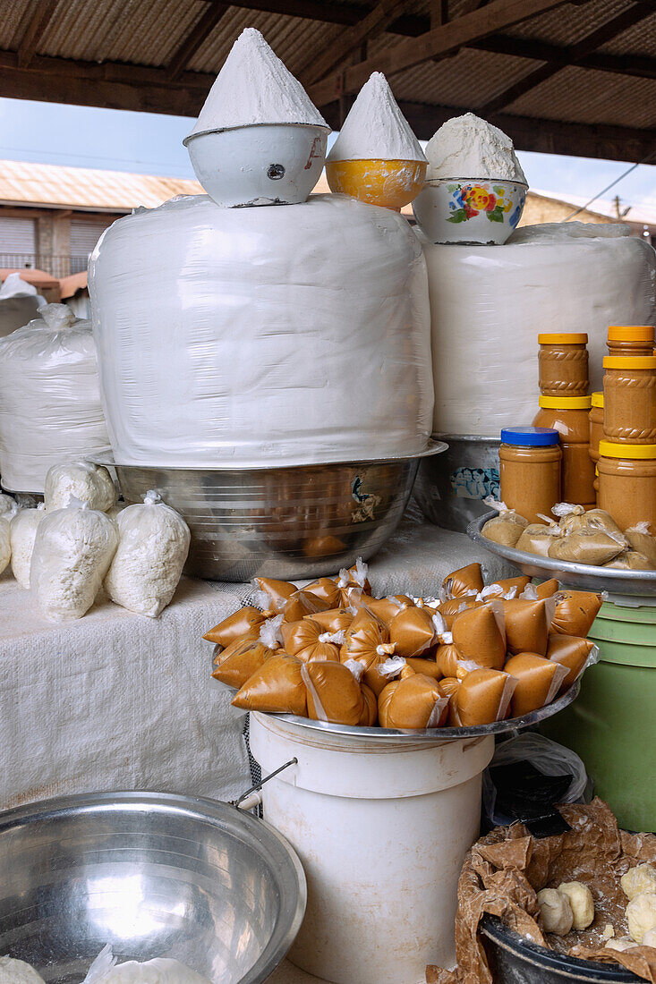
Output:
[[[523,717],[509,717],[507,720],[496,721],[494,724],[478,724],[469,728],[415,728],[402,731],[399,728],[365,728],[352,727],[349,724],[328,724],[325,721],[310,720],[309,717],[296,717],[295,714],[270,714],[267,716],[279,718],[281,721],[287,721],[289,724],[295,724],[297,727],[304,728],[305,730],[323,731],[328,736],[339,735],[350,738],[354,742],[358,742],[359,740],[370,741],[372,738],[392,745],[395,742],[407,743],[409,738],[415,738],[418,742],[449,742],[459,739],[479,738],[485,735],[500,735],[506,731],[516,731],[520,728],[528,728],[532,724],[538,724],[539,721],[544,721],[545,718],[558,714],[558,711],[568,707],[576,699],[580,687],[579,680],[576,680],[569,690],[565,691],[557,701],[552,701],[551,704],[548,704],[546,707],[540,707],[539,710],[533,710],[530,714],[524,714]],[[226,684],[221,684],[221,686],[226,687],[231,694],[236,694],[235,688],[228,687]]]

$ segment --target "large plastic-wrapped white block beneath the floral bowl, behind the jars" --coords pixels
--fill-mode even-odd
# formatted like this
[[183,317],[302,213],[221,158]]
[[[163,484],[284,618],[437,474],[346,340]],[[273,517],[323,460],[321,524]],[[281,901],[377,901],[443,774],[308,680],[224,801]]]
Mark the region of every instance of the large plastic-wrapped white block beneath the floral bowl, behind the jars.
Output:
[[623,225],[549,223],[504,246],[424,244],[432,318],[433,430],[498,438],[530,423],[538,334],[587,332],[602,389],[609,325],[653,325],[656,254]]

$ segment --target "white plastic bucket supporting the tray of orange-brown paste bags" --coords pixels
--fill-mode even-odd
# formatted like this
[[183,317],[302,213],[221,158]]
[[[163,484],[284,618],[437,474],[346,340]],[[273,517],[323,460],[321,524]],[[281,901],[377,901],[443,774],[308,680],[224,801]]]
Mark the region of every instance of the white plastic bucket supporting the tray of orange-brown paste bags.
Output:
[[296,966],[336,984],[422,984],[426,963],[452,965],[493,738],[356,743],[253,713],[250,747],[263,774],[298,760],[262,788],[307,877]]

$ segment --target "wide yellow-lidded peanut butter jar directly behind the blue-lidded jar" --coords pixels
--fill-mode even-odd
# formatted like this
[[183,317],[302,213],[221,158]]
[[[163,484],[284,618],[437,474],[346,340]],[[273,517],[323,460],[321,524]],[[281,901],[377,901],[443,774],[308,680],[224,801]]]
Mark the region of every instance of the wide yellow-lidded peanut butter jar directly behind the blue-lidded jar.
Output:
[[552,427],[562,449],[561,501],[592,509],[595,495],[595,463],[589,455],[590,397],[540,397],[534,427]]

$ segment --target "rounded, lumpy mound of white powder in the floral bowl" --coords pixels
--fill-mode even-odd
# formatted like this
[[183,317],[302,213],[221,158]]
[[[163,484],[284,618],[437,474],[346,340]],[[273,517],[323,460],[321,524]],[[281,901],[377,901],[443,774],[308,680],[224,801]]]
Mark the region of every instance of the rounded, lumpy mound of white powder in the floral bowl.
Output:
[[426,157],[427,178],[494,178],[526,184],[510,138],[474,113],[442,124],[428,141]]

